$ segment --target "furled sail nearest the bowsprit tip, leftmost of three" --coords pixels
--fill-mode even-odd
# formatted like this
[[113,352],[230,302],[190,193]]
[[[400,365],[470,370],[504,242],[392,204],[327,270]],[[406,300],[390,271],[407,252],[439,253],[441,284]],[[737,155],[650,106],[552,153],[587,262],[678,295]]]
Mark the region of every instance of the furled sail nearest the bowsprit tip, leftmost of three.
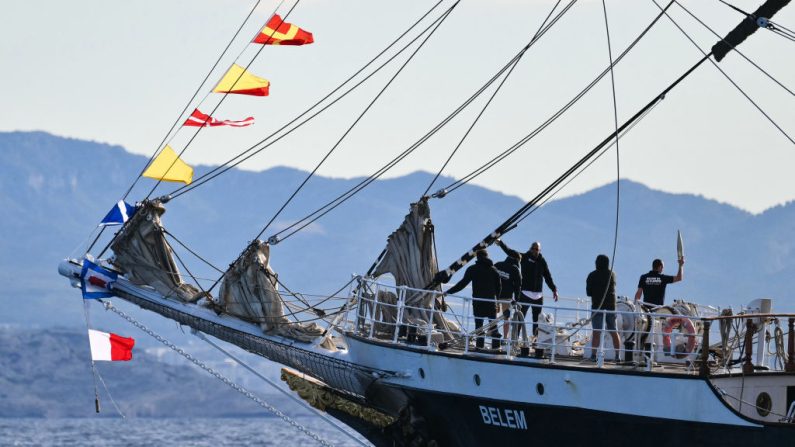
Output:
[[149,285],[164,297],[194,302],[202,293],[182,281],[165,237],[159,200],[145,201],[113,241],[113,264],[134,284]]

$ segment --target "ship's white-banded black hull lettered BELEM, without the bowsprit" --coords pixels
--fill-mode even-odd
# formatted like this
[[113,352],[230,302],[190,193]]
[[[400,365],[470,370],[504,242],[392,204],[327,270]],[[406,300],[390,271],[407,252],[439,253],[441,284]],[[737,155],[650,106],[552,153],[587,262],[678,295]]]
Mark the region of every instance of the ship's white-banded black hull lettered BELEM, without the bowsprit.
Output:
[[795,445],[795,424],[750,419],[694,375],[349,342],[365,364],[404,372],[371,387],[405,396],[413,429],[442,446]]

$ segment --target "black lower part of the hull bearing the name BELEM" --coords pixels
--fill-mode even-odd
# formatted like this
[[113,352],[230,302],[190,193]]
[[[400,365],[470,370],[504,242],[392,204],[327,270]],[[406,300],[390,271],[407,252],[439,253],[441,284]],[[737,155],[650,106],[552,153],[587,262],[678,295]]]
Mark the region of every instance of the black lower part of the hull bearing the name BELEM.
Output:
[[[734,426],[403,389],[440,446],[793,445],[792,426]],[[621,399],[621,396],[616,396]],[[654,402],[649,402],[650,406]]]

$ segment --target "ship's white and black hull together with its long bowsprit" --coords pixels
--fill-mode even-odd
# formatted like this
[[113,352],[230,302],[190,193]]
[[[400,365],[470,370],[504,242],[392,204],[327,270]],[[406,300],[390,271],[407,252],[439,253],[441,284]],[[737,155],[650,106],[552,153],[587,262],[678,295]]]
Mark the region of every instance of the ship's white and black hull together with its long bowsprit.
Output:
[[[63,273],[78,271],[67,265]],[[353,334],[347,352],[324,354],[124,281],[117,288],[145,309],[322,380],[343,401],[325,410],[378,446],[795,445],[795,424],[748,418],[692,374],[450,353]],[[795,376],[782,377],[788,408]],[[373,424],[349,404],[395,422]]]

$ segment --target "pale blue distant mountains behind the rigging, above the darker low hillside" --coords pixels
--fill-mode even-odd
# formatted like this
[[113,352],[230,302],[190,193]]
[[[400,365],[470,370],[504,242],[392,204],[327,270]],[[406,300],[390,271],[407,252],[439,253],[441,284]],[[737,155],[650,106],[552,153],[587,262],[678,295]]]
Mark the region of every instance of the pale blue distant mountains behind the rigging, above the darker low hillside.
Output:
[[[0,134],[0,291],[13,300],[0,322],[81,325],[79,295],[56,273],[60,259],[86,240],[96,223],[126,191],[146,159],[121,147],[64,139],[40,132]],[[197,175],[207,171],[198,167]],[[262,230],[306,173],[288,168],[265,172],[232,170],[171,201],[164,216],[180,241],[223,269]],[[363,273],[400,224],[408,204],[431,175],[417,172],[376,181],[362,193],[304,231],[272,249],[272,265],[283,282],[310,294],[328,294],[351,273]],[[315,177],[263,237],[274,234],[336,197],[361,179]],[[451,181],[442,178],[437,186]],[[142,179],[130,195],[140,199],[153,182]],[[173,190],[173,184],[157,195]],[[675,272],[675,236],[685,236],[686,279],[669,296],[717,305],[741,305],[752,298],[789,304],[789,278],[795,273],[795,204],[752,215],[700,196],[668,194],[621,182],[621,220],[616,272],[619,294],[634,293],[637,278],[660,257]],[[439,262],[454,261],[522,205],[516,197],[465,186],[433,200]],[[543,243],[561,293],[582,296],[584,278],[598,253],[612,253],[615,184],[548,203],[504,239],[526,249]],[[102,240],[97,253],[106,243]],[[174,244],[177,245],[178,244]],[[83,246],[85,247],[85,246]],[[498,248],[492,257],[502,258]],[[81,252],[71,253],[79,256]],[[191,271],[211,283],[218,273],[184,250]],[[10,304],[10,303],[8,303]],[[151,318],[142,314],[141,318]]]

